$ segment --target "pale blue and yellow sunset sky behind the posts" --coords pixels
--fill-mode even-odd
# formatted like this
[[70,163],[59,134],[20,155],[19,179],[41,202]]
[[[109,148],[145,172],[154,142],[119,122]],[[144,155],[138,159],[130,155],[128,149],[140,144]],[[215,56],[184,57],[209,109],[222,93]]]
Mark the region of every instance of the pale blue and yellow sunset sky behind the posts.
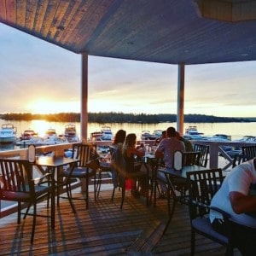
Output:
[[[0,113],[80,112],[81,55],[0,23]],[[185,67],[184,113],[256,117],[256,61]],[[177,113],[177,65],[89,56],[89,112]]]

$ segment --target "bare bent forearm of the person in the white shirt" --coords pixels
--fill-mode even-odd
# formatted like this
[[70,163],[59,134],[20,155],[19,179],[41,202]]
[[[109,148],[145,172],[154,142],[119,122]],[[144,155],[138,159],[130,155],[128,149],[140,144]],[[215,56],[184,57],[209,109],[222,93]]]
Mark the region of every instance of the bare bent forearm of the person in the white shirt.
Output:
[[256,212],[256,196],[243,195],[240,192],[230,192],[230,203],[237,214],[245,212]]

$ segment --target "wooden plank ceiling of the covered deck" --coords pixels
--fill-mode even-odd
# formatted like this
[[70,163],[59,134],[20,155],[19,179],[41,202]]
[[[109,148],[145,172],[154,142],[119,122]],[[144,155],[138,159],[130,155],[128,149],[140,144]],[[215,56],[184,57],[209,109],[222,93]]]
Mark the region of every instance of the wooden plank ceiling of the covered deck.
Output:
[[206,19],[195,0],[1,0],[0,22],[74,53],[187,65],[256,60],[256,20]]

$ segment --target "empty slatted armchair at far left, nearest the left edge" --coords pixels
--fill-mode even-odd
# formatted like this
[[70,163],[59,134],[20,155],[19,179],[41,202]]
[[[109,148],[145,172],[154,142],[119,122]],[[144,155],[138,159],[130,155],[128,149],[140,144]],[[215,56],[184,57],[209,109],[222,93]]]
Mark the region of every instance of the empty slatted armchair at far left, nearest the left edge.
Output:
[[[33,207],[31,233],[31,243],[33,243],[36,228],[37,203],[38,201],[42,201],[46,196],[49,198],[52,189],[55,189],[50,186],[51,174],[46,173],[43,177],[33,179],[32,164],[28,160],[12,159],[0,159],[0,173],[0,200],[18,202],[18,224],[20,224],[20,215],[22,213],[21,204],[27,203],[28,209],[30,206]],[[44,182],[45,178],[46,182]],[[26,215],[31,215],[28,213],[28,209],[24,218],[26,218]],[[40,216],[43,217],[42,215]],[[51,224],[53,224],[55,218],[54,200],[51,200],[50,218]]]

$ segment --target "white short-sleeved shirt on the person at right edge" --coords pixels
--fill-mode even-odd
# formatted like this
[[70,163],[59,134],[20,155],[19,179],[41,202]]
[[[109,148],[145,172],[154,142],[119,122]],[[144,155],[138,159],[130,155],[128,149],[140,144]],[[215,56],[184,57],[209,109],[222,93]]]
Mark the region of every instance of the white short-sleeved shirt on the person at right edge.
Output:
[[[242,163],[230,171],[224,178],[221,188],[212,198],[212,207],[218,207],[228,212],[235,222],[256,228],[256,218],[253,218],[245,213],[237,214],[233,211],[230,203],[230,192],[236,191],[243,195],[252,195],[253,191],[250,189],[252,184],[256,183],[256,170],[253,160]],[[222,218],[218,212],[211,210],[211,223],[214,218]]]

